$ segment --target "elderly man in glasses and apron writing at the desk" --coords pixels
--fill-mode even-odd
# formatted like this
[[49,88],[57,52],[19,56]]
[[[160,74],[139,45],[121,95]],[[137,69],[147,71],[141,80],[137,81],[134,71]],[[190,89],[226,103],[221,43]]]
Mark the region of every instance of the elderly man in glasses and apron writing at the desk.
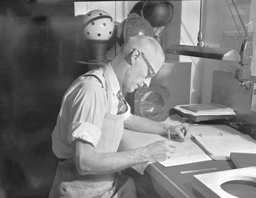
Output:
[[128,178],[120,186],[115,172],[138,163],[165,161],[175,152],[176,143],[164,140],[117,152],[124,127],[162,136],[169,129],[181,141],[190,138],[187,124],[171,126],[132,115],[122,96],[121,90],[148,86],[163,62],[155,38],[133,36],[110,63],[72,83],[52,134],[52,148],[60,162],[50,197],[136,197],[133,180]]

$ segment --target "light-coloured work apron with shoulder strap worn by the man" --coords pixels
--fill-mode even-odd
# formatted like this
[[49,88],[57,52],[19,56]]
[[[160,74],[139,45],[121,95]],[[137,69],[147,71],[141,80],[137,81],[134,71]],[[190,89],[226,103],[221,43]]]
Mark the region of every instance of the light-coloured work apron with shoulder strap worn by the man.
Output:
[[[101,128],[102,134],[95,150],[101,153],[116,152],[123,133],[123,119],[121,115],[110,114],[111,84],[105,67],[103,75],[107,84],[108,111],[104,117]],[[133,198],[137,196],[136,188],[131,178],[127,179],[122,187],[119,187],[114,173],[81,175],[78,173],[75,164],[66,160],[58,164],[49,197]]]

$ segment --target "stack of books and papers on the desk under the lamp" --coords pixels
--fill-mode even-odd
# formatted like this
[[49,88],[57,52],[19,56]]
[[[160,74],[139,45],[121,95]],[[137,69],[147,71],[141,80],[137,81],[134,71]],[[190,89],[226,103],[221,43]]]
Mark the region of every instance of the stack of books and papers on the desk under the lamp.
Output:
[[236,116],[236,113],[230,106],[218,103],[176,105],[173,109],[175,109],[179,115],[195,122],[233,118]]

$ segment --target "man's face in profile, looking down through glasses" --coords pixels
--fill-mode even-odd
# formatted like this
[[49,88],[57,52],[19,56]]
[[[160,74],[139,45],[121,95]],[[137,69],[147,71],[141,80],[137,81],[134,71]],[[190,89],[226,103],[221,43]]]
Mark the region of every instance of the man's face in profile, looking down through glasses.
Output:
[[153,65],[147,59],[146,55],[141,52],[138,61],[136,61],[125,74],[122,88],[126,92],[133,92],[139,87],[148,87],[151,79],[156,75],[161,65]]

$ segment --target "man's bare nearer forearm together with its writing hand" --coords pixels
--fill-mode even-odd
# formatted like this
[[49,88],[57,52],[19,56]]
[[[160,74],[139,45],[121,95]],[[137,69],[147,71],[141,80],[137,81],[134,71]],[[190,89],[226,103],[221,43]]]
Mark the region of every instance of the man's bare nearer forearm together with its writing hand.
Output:
[[73,158],[80,174],[113,173],[138,163],[165,161],[175,152],[176,143],[162,140],[129,151],[96,153],[81,151]]

